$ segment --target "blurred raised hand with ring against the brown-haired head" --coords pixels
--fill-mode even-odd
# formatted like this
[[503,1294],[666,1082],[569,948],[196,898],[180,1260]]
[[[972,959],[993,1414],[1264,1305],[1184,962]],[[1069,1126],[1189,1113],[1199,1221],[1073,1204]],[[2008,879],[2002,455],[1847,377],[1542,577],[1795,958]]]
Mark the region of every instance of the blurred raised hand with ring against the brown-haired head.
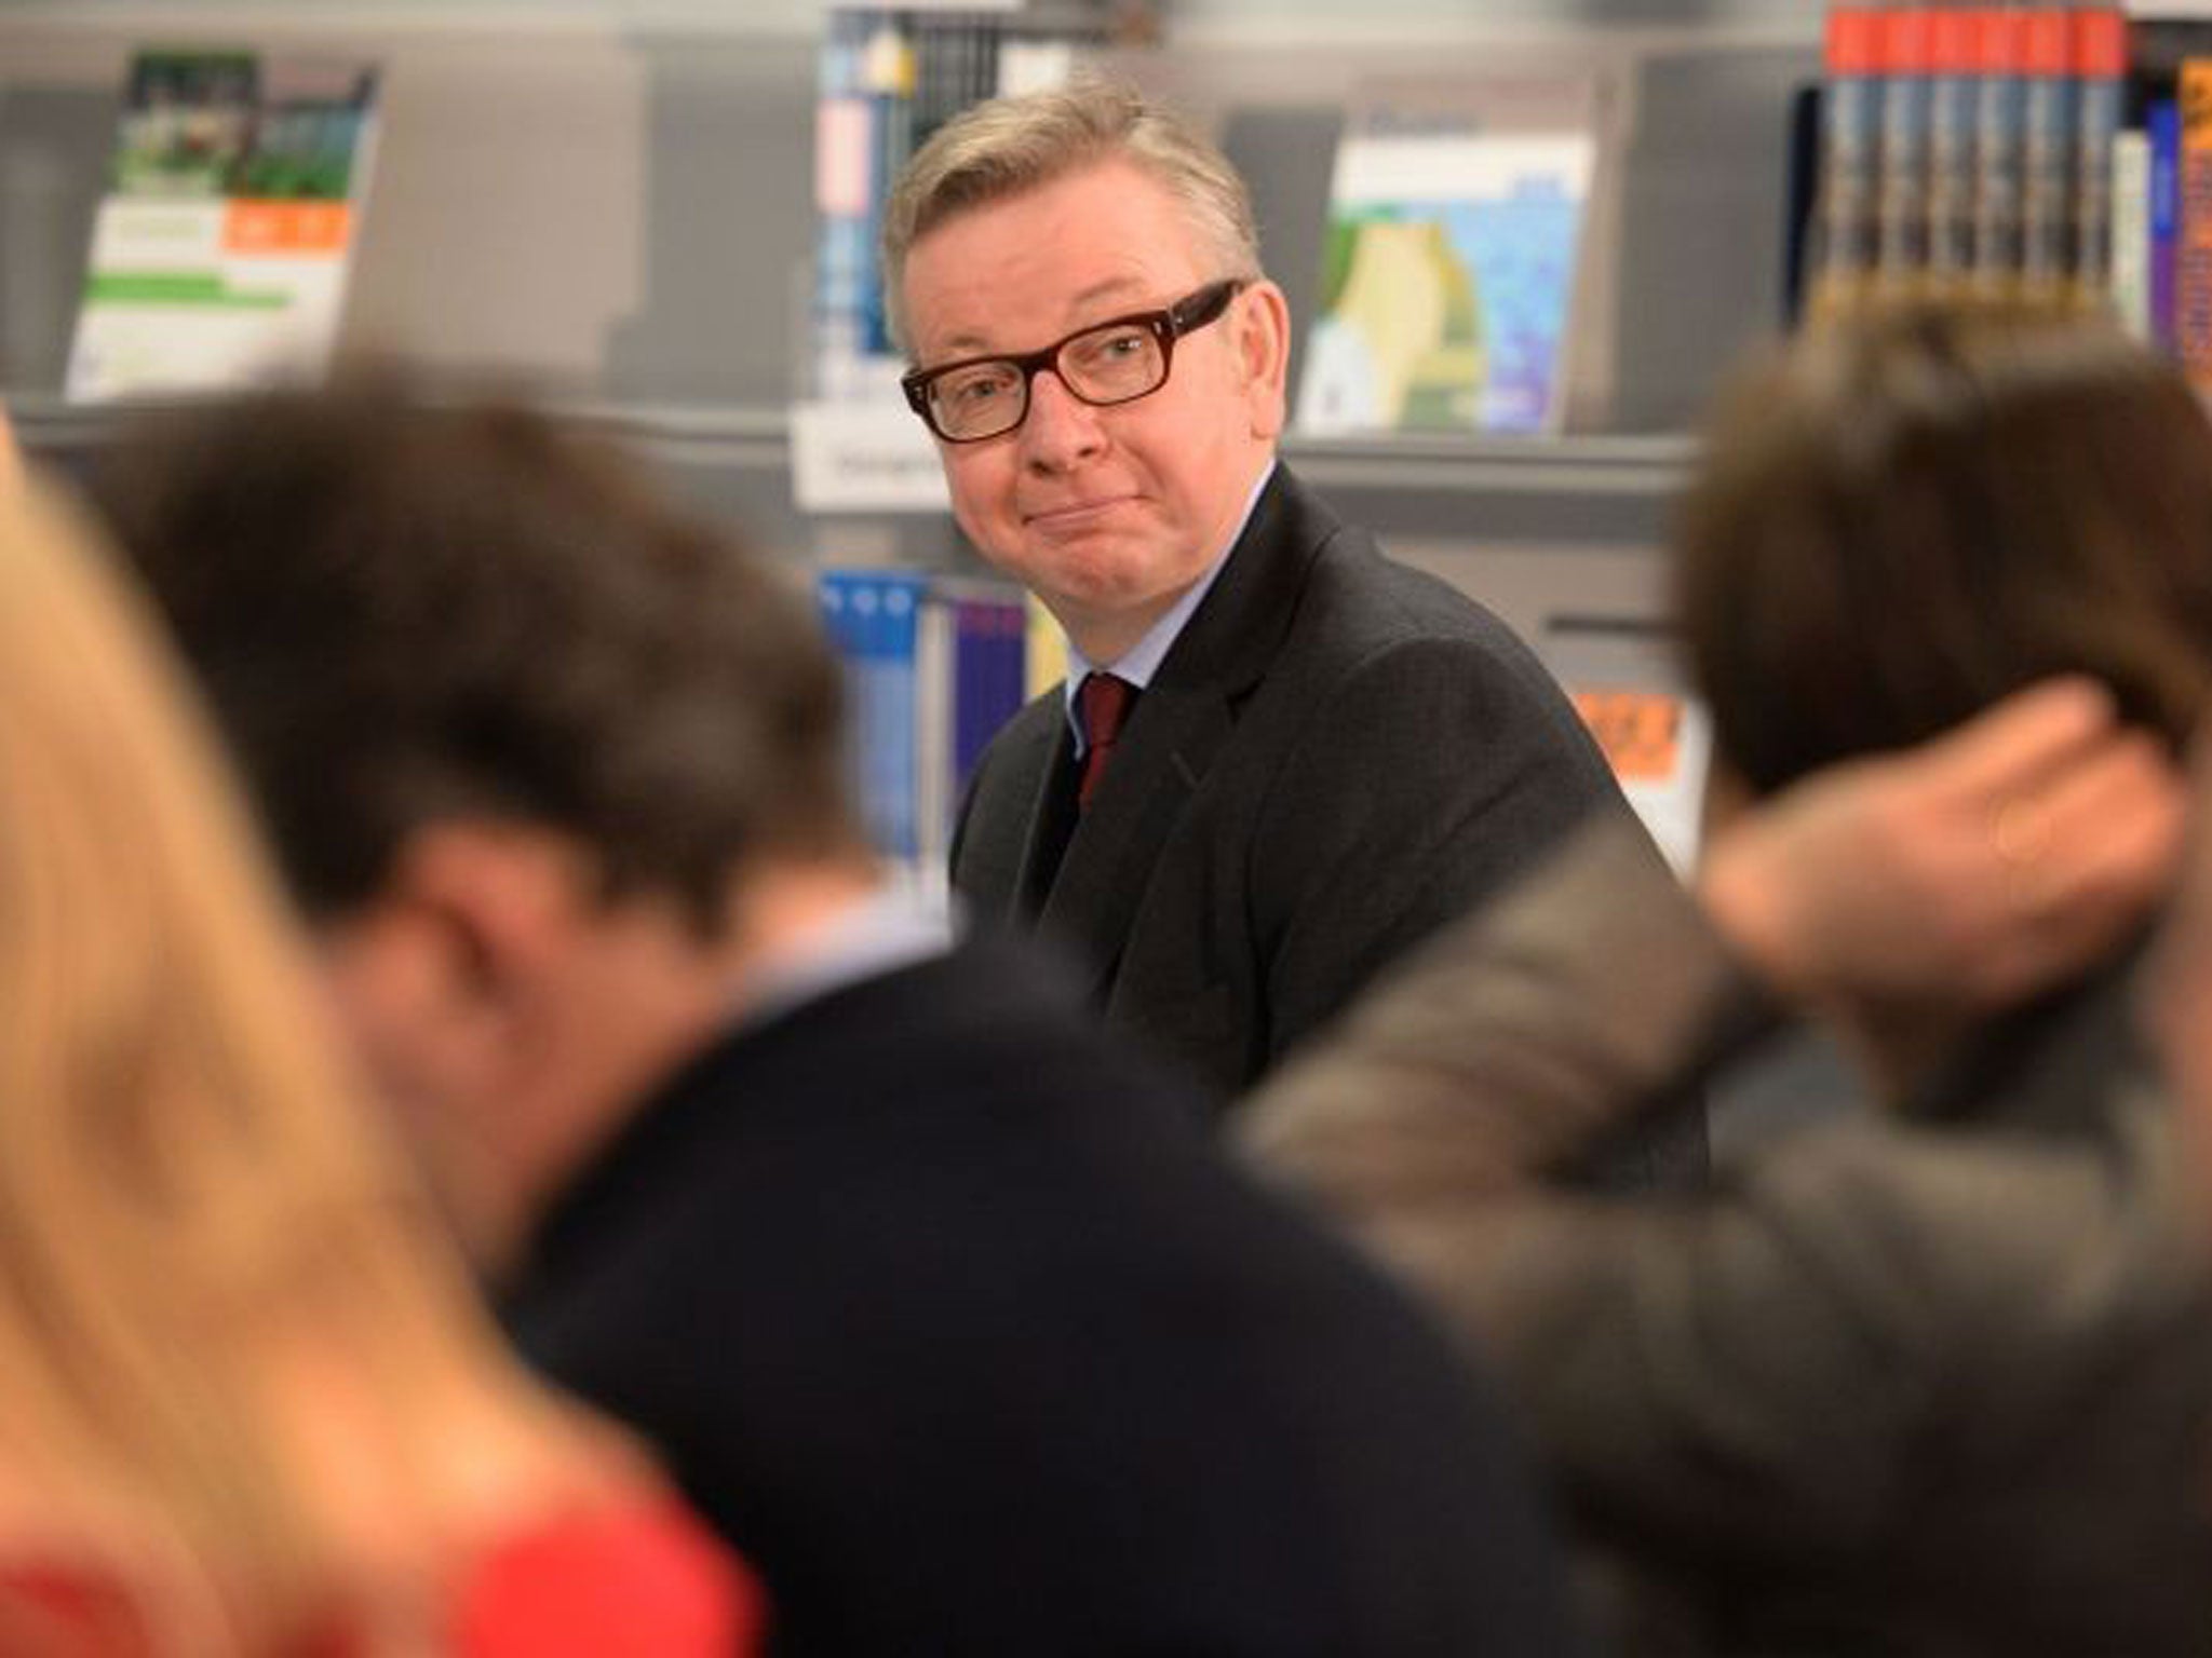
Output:
[[2163,747],[2121,727],[2104,688],[2059,679],[1761,802],[1714,838],[1699,898],[1787,1001],[1993,1008],[2141,922],[2181,818]]

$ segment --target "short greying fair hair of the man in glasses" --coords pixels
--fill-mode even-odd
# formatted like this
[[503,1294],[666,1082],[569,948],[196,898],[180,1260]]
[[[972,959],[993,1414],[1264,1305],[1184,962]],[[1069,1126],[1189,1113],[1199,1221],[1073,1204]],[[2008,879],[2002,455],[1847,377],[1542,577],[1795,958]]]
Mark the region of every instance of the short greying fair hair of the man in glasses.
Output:
[[883,294],[891,338],[907,340],[907,254],[947,219],[1106,161],[1128,161],[1181,206],[1214,276],[1259,281],[1252,192],[1186,117],[1104,75],[956,115],[907,161],[883,210]]

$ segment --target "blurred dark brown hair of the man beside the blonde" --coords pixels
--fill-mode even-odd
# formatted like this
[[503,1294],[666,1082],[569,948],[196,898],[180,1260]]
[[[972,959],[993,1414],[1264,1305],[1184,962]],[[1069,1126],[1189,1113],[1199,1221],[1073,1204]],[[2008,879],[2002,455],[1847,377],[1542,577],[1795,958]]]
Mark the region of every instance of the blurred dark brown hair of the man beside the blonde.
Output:
[[458,816],[571,833],[701,924],[748,856],[854,844],[799,595],[542,413],[378,371],[173,413],[100,482],[312,913]]

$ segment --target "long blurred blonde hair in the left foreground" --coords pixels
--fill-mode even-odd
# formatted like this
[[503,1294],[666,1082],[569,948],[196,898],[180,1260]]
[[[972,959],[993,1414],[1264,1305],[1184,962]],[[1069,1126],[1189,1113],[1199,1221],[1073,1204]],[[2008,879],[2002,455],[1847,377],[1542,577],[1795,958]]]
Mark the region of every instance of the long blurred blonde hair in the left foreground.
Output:
[[560,1419],[325,1026],[135,590],[35,482],[0,500],[0,1479],[159,1601],[175,1649],[230,1649],[173,1636],[188,1605],[201,1636],[265,1636],[345,1574],[268,1426],[270,1337],[341,1337],[422,1452],[385,1488],[425,1505],[416,1417],[456,1382]]

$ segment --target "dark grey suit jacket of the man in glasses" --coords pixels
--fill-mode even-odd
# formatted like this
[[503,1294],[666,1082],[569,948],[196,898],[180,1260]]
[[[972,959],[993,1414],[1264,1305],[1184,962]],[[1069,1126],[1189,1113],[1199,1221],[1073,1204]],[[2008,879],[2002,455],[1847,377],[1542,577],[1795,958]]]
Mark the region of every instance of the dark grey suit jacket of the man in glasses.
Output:
[[1586,814],[1626,811],[1526,646],[1283,466],[1079,825],[1073,776],[1053,690],[984,754],[953,886],[1221,1096]]

